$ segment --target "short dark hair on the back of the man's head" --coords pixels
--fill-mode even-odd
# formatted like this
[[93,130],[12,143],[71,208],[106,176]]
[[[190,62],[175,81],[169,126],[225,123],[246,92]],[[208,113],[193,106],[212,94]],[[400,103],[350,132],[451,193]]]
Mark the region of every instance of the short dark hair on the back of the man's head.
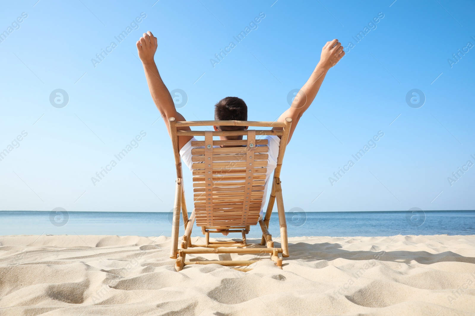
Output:
[[[243,99],[226,97],[214,106],[214,119],[217,121],[247,121],[247,105]],[[244,126],[220,126],[222,130],[244,129]]]

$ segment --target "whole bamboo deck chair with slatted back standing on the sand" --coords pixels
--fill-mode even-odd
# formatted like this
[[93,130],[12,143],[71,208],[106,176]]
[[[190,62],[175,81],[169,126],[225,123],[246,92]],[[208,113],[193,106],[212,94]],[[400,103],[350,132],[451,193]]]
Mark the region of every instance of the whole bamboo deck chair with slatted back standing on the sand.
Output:
[[[248,266],[257,260],[243,261],[186,261],[187,254],[193,253],[254,253],[270,255],[282,269],[282,257],[289,256],[287,242],[287,225],[285,222],[284,202],[280,182],[280,170],[284,159],[285,147],[289,136],[292,119],[285,122],[255,121],[183,121],[169,118],[171,142],[175,156],[177,172],[175,202],[171,229],[171,254],[175,260],[176,271],[181,271],[189,264],[217,263],[224,266]],[[234,131],[181,131],[182,126],[258,126],[282,127],[282,130],[234,130]],[[192,146],[204,148],[192,149],[193,161],[193,198],[194,208],[188,218],[183,189],[181,157],[178,149],[178,136],[205,136],[204,141],[192,141]],[[213,136],[245,135],[243,140],[213,140]],[[277,166],[274,171],[272,190],[266,215],[258,221],[266,181],[267,151],[266,139],[256,139],[256,135],[281,136]],[[244,137],[243,137],[244,138]],[[237,147],[216,147],[217,145],[235,145]],[[256,146],[259,145],[259,146]],[[268,231],[272,208],[277,198],[277,210],[280,223],[281,248],[274,247],[272,236]],[[185,226],[185,233],[178,248],[180,210]],[[191,244],[191,230],[194,222],[201,227],[206,244]],[[260,246],[247,244],[246,234],[250,226],[259,224],[262,230]],[[210,233],[241,233],[241,241],[209,241]],[[262,247],[265,246],[265,247]],[[248,268],[233,268],[249,271]]]

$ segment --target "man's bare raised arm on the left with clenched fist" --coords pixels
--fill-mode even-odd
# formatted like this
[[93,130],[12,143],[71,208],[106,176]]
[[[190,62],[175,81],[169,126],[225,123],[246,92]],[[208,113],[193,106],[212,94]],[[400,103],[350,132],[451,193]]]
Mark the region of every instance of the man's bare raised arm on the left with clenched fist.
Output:
[[[170,92],[161,80],[157,65],[153,59],[153,56],[157,51],[157,46],[157,38],[153,36],[150,31],[143,33],[143,36],[137,41],[137,51],[143,64],[143,70],[145,72],[145,77],[147,78],[150,94],[152,95],[153,102],[155,102],[155,105],[160,111],[161,117],[165,121],[165,126],[167,126],[168,133],[170,134],[168,119],[170,117],[175,117],[177,121],[184,121],[185,118],[177,112],[173,99],[171,99]],[[179,127],[178,129],[190,130],[190,127]],[[188,143],[190,139],[191,136],[178,137],[179,149]]]

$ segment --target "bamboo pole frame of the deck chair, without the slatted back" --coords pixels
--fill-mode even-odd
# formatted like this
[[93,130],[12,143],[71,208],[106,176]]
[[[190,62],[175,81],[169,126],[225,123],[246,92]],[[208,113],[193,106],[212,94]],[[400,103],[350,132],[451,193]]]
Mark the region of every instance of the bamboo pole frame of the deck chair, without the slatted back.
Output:
[[[175,157],[175,167],[177,173],[175,202],[173,208],[173,219],[171,228],[171,253],[170,258],[175,259],[175,270],[181,271],[185,265],[190,264],[220,264],[223,266],[248,266],[259,260],[241,260],[241,261],[185,261],[186,255],[189,253],[260,253],[270,254],[270,259],[276,262],[276,266],[282,269],[282,257],[289,256],[288,240],[287,240],[287,224],[285,221],[284,200],[282,198],[282,186],[280,181],[280,171],[282,168],[282,161],[284,159],[285,148],[287,146],[290,127],[292,119],[285,118],[284,122],[263,122],[263,121],[176,121],[174,117],[168,119],[171,134],[171,143],[173,146],[173,153]],[[181,157],[178,148],[178,136],[204,136],[204,131],[183,131],[178,130],[179,127],[184,126],[258,126],[258,127],[282,127],[282,130],[256,130],[256,135],[277,135],[281,136],[279,153],[277,156],[277,166],[274,170],[272,190],[267,204],[266,215],[259,220],[259,226],[262,230],[262,239],[260,245],[266,247],[258,247],[257,244],[247,244],[246,234],[249,232],[250,226],[201,226],[201,232],[206,237],[206,244],[191,244],[191,231],[195,222],[195,209],[188,217],[188,212],[185,203],[185,192],[183,188],[183,172],[181,168]],[[213,136],[228,136],[228,135],[247,135],[248,130],[234,130],[234,131],[213,131]],[[269,233],[269,221],[272,215],[272,209],[277,200],[277,213],[280,224],[281,248],[274,247],[272,235]],[[264,201],[262,201],[264,203]],[[178,248],[179,228],[180,228],[180,212],[183,217],[185,226],[185,233],[180,244],[181,249]],[[219,231],[218,231],[219,229]],[[242,233],[241,241],[209,241],[210,233]],[[246,248],[247,246],[254,246]],[[257,246],[257,247],[256,247]],[[195,249],[196,248],[196,249]],[[249,271],[248,268],[233,268],[239,271]]]

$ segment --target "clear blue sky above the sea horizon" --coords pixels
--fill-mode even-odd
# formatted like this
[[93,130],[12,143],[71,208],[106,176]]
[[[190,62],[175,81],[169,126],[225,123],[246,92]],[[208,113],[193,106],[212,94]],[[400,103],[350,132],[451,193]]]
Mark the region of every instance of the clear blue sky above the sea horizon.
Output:
[[[171,141],[135,47],[147,30],[167,87],[186,92],[189,120],[213,119],[226,96],[244,99],[250,120],[275,120],[322,46],[346,47],[287,147],[287,210],[475,209],[474,1],[155,1],[2,4],[0,210],[171,210]],[[57,89],[66,106],[64,93],[50,102]]]

